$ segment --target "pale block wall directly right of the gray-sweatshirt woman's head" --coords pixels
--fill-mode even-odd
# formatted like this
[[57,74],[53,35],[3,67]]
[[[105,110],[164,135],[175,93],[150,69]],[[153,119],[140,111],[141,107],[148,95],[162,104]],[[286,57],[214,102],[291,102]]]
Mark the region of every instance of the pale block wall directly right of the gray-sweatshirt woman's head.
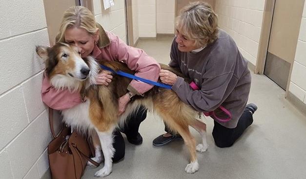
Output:
[[219,26],[233,37],[243,56],[257,61],[265,0],[216,0]]

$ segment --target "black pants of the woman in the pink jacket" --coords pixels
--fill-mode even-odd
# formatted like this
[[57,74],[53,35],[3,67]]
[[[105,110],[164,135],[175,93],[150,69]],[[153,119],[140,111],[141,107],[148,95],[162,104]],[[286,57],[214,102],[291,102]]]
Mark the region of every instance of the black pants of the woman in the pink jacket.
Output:
[[122,127],[121,129],[115,129],[113,133],[113,147],[115,148],[113,162],[120,161],[124,157],[125,153],[125,143],[120,131],[122,131],[126,136],[130,138],[136,137],[140,124],[146,118],[146,112],[147,110],[145,107],[140,107],[137,112],[132,114],[129,119],[127,119],[127,124],[124,125],[124,127]]

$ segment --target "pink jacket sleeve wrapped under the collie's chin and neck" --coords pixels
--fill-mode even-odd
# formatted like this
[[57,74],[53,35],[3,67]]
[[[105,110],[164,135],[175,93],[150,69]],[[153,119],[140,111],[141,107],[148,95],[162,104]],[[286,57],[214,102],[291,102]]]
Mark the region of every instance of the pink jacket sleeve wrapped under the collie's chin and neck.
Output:
[[56,90],[47,77],[42,80],[41,98],[44,104],[56,110],[68,109],[82,103],[79,92]]

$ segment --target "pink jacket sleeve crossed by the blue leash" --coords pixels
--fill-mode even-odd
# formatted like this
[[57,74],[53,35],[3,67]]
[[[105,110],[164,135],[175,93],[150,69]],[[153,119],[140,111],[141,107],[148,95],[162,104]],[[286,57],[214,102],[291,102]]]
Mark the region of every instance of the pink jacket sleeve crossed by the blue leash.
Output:
[[[111,40],[112,54],[116,59],[127,64],[129,69],[135,71],[135,76],[155,82],[158,80],[161,67],[153,57],[147,55],[141,49],[126,45],[118,36]],[[151,88],[153,88],[153,85],[132,80],[128,90],[142,95]]]

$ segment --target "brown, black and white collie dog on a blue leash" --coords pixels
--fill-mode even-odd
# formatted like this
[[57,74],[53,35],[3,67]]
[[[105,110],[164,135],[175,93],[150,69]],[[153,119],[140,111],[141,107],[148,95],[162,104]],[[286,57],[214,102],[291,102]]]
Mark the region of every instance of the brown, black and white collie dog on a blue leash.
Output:
[[[98,62],[90,56],[82,58],[76,47],[65,43],[57,43],[52,48],[37,46],[36,52],[44,60],[46,77],[55,89],[79,91],[83,99],[86,99],[75,107],[62,110],[61,113],[67,125],[86,131],[85,133],[90,133],[93,138],[97,137],[98,142],[93,139],[96,151],[93,160],[102,161],[102,149],[104,166],[96,172],[96,177],[105,177],[112,172],[113,130],[140,105],[158,114],[173,131],[183,137],[190,152],[190,163],[185,167],[185,171],[194,173],[199,169],[196,151],[204,152],[207,149],[206,125],[197,120],[197,111],[184,104],[173,90],[154,86],[143,96],[137,96],[135,100],[130,101],[125,112],[119,116],[118,99],[127,92],[126,88],[131,79],[113,74],[112,82],[108,86],[95,85],[97,74],[102,71]],[[101,63],[114,71],[135,73],[121,62]],[[161,64],[161,67],[182,76],[166,65]],[[202,143],[197,146],[189,132],[189,125],[202,137]]]

